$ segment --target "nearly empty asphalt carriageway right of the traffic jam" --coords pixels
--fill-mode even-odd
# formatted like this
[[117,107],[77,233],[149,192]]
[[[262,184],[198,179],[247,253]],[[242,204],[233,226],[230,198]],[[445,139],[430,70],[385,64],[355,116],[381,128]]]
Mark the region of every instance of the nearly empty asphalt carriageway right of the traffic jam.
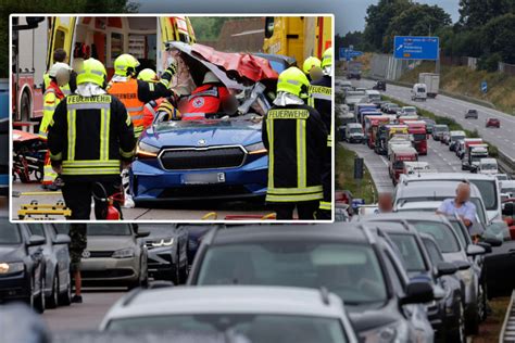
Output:
[[[372,88],[374,84],[375,81],[365,79],[353,81],[355,87]],[[411,89],[406,87],[387,85],[387,91],[384,93],[402,102],[430,111],[436,115],[452,117],[467,130],[477,129],[486,141],[498,147],[505,155],[515,160],[515,116],[441,94],[437,96],[436,99],[427,99],[425,102],[415,102],[411,100]],[[470,109],[478,111],[478,119],[464,118],[465,112]],[[485,124],[489,117],[500,119],[501,128],[486,128]]]

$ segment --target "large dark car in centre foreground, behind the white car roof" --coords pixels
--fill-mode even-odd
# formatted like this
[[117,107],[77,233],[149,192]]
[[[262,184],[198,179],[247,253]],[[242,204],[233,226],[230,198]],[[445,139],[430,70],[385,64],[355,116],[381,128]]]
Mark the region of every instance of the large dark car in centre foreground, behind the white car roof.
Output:
[[[202,239],[188,284],[327,288],[364,341],[432,342],[426,280],[410,281],[390,243],[351,224],[246,226]],[[391,340],[390,340],[391,339]]]

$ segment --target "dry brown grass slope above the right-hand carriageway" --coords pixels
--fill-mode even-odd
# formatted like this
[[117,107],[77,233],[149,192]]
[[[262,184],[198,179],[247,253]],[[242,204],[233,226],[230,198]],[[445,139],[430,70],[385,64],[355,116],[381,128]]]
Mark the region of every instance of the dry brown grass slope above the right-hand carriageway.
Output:
[[[424,62],[406,72],[399,80],[416,82],[419,73],[434,73],[435,62]],[[488,82],[488,93],[480,90],[482,81]],[[445,66],[440,68],[440,88],[456,94],[463,94],[490,101],[499,110],[515,115],[515,76],[486,71],[473,71],[467,66]]]

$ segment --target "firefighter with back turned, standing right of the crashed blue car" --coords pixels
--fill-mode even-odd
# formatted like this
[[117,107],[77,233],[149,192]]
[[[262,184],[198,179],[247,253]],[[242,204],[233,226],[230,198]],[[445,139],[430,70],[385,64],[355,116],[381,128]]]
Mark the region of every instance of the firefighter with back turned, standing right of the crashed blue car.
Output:
[[316,110],[306,105],[310,82],[305,74],[290,67],[279,75],[277,98],[263,119],[263,144],[268,150],[266,203],[277,219],[314,219],[323,199],[321,176],[328,165],[327,129]]

